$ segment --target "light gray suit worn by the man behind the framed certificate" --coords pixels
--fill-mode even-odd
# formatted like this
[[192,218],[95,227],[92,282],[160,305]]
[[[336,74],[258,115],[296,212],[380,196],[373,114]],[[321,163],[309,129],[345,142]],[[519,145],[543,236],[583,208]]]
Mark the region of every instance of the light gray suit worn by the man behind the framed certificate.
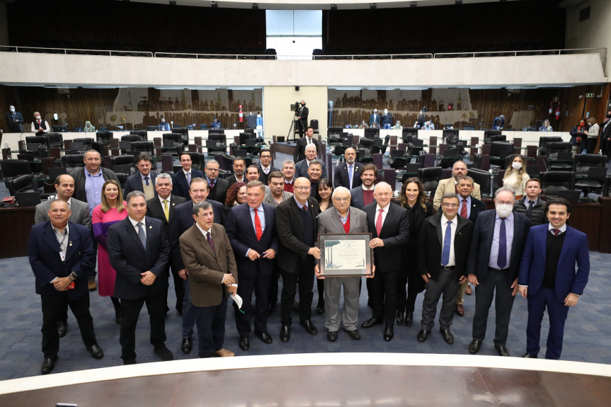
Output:
[[[338,212],[331,207],[318,215],[318,232],[346,233]],[[350,233],[369,233],[367,215],[362,210],[350,207]],[[373,264],[373,258],[372,264]],[[343,285],[343,327],[354,331],[358,327],[358,297],[360,277],[329,277],[324,280],[325,327],[330,332],[339,330],[339,298]]]

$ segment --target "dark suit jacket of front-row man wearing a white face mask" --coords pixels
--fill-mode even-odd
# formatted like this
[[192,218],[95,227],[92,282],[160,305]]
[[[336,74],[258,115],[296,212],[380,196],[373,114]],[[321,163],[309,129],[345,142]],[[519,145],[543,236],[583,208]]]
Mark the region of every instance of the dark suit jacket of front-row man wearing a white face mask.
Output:
[[[469,263],[467,274],[474,274],[478,280],[488,274],[488,260],[492,248],[492,236],[494,234],[494,220],[496,210],[486,210],[479,214],[473,231],[473,239],[469,248]],[[530,219],[525,215],[513,212],[513,241],[511,243],[511,257],[509,259],[509,271],[506,273],[507,282],[513,284],[518,277],[520,269],[520,258],[524,251],[524,243],[530,229]]]

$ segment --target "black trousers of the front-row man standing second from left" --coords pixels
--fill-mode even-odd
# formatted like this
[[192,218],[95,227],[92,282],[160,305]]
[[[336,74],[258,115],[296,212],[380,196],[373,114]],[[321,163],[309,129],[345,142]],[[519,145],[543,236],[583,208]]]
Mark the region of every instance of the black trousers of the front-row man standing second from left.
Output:
[[121,358],[136,357],[136,324],[142,305],[147,303],[149,321],[151,323],[151,344],[163,345],[166,341],[166,310],[164,295],[149,294],[139,299],[121,299],[121,332],[119,342],[121,344]]

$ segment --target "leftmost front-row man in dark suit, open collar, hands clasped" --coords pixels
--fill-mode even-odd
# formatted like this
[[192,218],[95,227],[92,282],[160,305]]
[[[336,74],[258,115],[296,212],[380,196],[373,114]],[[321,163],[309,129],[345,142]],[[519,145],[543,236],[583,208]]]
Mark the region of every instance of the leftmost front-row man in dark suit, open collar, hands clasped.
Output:
[[65,304],[70,306],[79,323],[85,347],[96,359],[104,352],[96,342],[93,318],[89,313],[87,275],[96,254],[91,231],[68,222],[70,209],[63,200],[54,200],[47,212],[50,221],[35,224],[30,231],[28,251],[30,266],[36,277],[36,294],[42,303],[42,352],[45,360],[40,372],[50,373],[59,352],[57,321]]

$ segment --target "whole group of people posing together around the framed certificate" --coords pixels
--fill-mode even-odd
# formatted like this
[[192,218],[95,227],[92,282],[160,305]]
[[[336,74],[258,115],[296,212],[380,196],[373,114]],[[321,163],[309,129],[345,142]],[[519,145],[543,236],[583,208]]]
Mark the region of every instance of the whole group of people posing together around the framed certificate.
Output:
[[[245,168],[236,158],[227,179],[219,178],[215,160],[206,161],[204,172],[193,168],[188,152],[181,154],[181,169],[173,175],[156,173],[152,159],[142,155],[122,190],[95,150],[86,152],[84,168],[59,176],[55,198],[36,208],[29,242],[42,302],[41,372],[55,367],[68,306],[86,348],[93,357],[103,357],[88,302],[88,288],[96,288],[95,280],[91,284],[96,251],[99,294],[113,302],[126,365],[136,362],[135,328],[145,302],[154,352],[161,360],[173,359],[165,345],[169,275],[182,318],[181,351],[191,352],[196,329],[198,357],[234,355],[224,348],[229,297],[241,350],[249,350],[253,331],[263,343],[273,343],[267,321],[278,299],[282,342],[295,335],[293,311],[304,331],[317,335],[311,318],[314,280],[315,309],[325,314],[332,342],[339,339],[342,323],[353,340],[360,339],[359,328],[378,324],[382,338],[392,340],[395,323],[413,324],[416,296],[426,290],[418,341],[428,338],[442,299],[440,331],[452,344],[452,319],[464,315],[462,294],[470,282],[476,304],[469,352],[476,353],[484,340],[496,296],[494,344],[499,355],[509,355],[508,323],[519,290],[529,301],[525,356],[539,352],[546,306],[552,324],[546,357],[560,356],[568,306],[583,293],[589,271],[586,235],[566,226],[569,202],[554,199],[544,205],[539,180],[526,180],[513,166],[517,175],[508,178],[520,185],[526,180],[525,196],[515,200],[512,188],[501,188],[496,210],[486,211],[479,185],[462,161],[452,178],[440,182],[433,202],[418,178],[406,180],[393,199],[394,185],[375,184],[376,166],[355,161],[353,148],[346,149],[331,182],[316,159],[312,128],[305,134],[295,151],[297,163],[287,160],[275,168],[270,151],[263,149],[257,166]],[[372,273],[366,285],[372,311],[360,327],[361,277],[326,277],[319,265],[318,236],[329,233],[370,234]]]

